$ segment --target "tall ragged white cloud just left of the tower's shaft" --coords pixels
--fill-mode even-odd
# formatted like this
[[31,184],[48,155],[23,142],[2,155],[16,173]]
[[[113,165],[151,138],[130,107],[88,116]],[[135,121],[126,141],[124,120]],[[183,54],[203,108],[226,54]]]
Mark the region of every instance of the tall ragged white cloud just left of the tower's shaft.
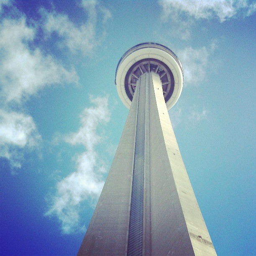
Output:
[[84,230],[79,216],[81,204],[87,199],[97,199],[104,185],[102,173],[106,169],[104,163],[100,163],[95,146],[102,140],[97,133],[98,125],[110,118],[108,98],[91,97],[90,100],[95,107],[84,109],[79,130],[65,136],[67,143],[83,145],[86,151],[76,157],[76,171],[58,182],[46,212],[46,215],[56,215],[63,233],[79,231],[81,227]]

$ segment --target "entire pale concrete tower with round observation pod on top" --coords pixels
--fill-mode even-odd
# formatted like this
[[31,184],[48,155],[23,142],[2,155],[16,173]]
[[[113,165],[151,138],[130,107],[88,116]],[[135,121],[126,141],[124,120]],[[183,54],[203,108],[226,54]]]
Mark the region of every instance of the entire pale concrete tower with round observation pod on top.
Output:
[[179,59],[138,44],[115,83],[130,110],[78,255],[216,255],[168,114],[182,91]]

